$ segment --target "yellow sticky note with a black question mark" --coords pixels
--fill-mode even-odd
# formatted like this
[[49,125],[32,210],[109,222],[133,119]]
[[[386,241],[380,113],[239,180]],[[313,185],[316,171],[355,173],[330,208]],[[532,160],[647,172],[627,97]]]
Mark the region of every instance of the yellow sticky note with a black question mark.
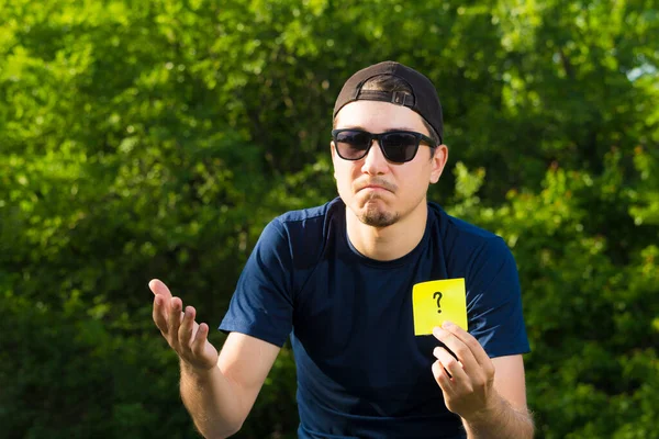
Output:
[[415,336],[433,334],[444,320],[467,330],[465,278],[417,283],[412,288],[412,307]]

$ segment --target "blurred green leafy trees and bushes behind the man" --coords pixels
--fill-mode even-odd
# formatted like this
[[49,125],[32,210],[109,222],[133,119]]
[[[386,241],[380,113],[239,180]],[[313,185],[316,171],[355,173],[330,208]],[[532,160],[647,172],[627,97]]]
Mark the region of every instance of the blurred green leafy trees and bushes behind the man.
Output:
[[[393,59],[444,105],[429,199],[516,257],[537,437],[658,438],[658,41],[652,0],[0,0],[0,437],[198,437],[148,280],[216,327]],[[237,437],[294,392],[287,346]]]

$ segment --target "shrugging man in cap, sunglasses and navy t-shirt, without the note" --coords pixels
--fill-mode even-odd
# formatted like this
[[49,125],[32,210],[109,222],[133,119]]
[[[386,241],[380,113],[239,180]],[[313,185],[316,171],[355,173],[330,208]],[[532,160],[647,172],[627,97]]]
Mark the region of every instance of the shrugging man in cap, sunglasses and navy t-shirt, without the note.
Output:
[[[426,200],[448,156],[434,86],[398,63],[370,66],[344,85],[334,127],[339,198],[265,228],[220,354],[194,308],[149,283],[196,426],[238,431],[290,336],[301,438],[530,438],[514,259]],[[466,279],[470,333],[445,323],[415,336],[413,285],[454,278]]]

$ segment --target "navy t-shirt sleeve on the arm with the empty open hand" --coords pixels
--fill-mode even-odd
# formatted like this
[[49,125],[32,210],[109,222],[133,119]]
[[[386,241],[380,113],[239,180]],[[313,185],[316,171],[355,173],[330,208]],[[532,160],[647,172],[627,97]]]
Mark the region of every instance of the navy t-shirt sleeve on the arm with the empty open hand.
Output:
[[220,330],[242,333],[279,347],[292,330],[292,270],[287,232],[266,226],[236,285]]

